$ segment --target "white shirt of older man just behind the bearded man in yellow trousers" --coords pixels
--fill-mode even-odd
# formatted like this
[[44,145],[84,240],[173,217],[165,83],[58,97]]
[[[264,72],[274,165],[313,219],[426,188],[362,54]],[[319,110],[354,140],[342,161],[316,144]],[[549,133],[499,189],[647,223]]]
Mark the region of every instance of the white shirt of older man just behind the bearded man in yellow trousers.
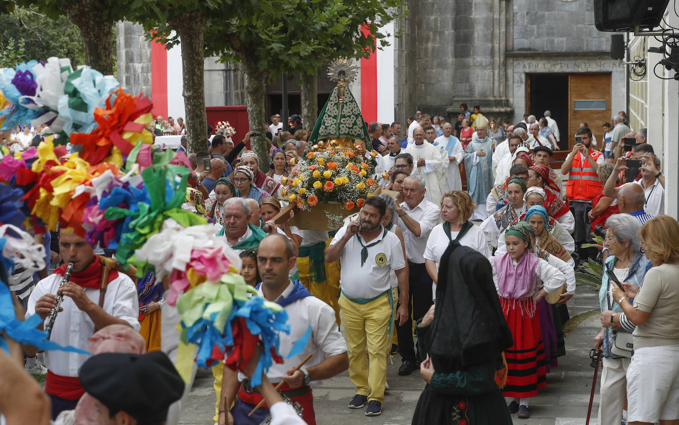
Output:
[[401,227],[401,232],[403,232],[405,256],[411,263],[422,264],[424,263],[424,250],[426,249],[426,241],[429,238],[429,234],[441,222],[441,216],[439,215],[441,210],[436,204],[426,199],[423,199],[413,209],[410,209],[405,202],[401,203],[400,206],[411,219],[420,223],[420,237],[417,237],[405,226],[401,217],[395,217],[394,223]]

